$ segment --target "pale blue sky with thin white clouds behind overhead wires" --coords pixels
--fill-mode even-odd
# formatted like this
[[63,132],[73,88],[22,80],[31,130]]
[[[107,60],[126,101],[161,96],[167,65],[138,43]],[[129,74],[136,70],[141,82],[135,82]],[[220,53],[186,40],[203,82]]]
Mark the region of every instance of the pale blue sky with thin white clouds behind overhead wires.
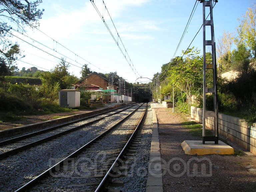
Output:
[[[94,0],[94,2],[101,12],[103,10],[106,23],[117,37],[113,25],[104,13],[102,0]],[[168,63],[173,57],[195,4],[195,0],[104,0],[104,2],[136,70],[140,76],[147,78],[152,78],[154,73],[160,72],[162,64]],[[237,18],[245,14],[247,8],[254,2],[253,0],[219,0],[213,9],[216,43],[223,30],[236,33],[236,27],[239,25]],[[88,64],[91,70],[101,73],[117,71],[118,75],[127,81],[135,82],[137,76],[89,0],[75,2],[43,0],[40,8],[44,8],[45,11],[39,29],[92,63],[93,65]],[[202,4],[199,3],[176,56],[180,56],[181,50],[187,48],[201,25]],[[27,35],[54,50],[57,48],[58,52],[71,58],[71,60],[67,58],[66,61],[74,65],[81,67],[80,64],[88,63],[58,44],[56,47],[56,42],[37,30],[27,28]],[[25,36],[19,34],[17,36],[56,57],[63,57]],[[13,42],[17,42],[24,51],[26,57],[22,60],[25,62],[46,69],[53,69],[59,62],[57,58],[15,37]],[[202,44],[202,32],[200,32],[192,46],[202,50]],[[27,69],[32,66],[18,62],[18,67]],[[80,77],[81,68],[71,65],[69,71]]]

